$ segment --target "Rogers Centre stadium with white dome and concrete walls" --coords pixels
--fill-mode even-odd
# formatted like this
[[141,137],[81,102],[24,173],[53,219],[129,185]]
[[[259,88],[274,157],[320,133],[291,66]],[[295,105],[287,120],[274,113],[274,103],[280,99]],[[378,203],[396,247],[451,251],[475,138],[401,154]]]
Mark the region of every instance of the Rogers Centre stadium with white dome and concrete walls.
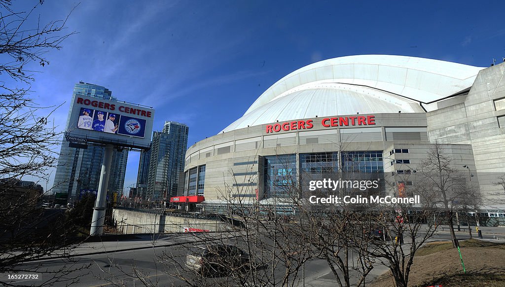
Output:
[[495,199],[505,173],[504,72],[505,63],[482,68],[389,55],[300,68],[187,150],[184,183],[170,201],[206,212],[233,200],[268,205],[302,174],[339,166],[411,185],[399,175],[418,171],[439,143],[452,167],[478,184],[481,213],[503,218]]

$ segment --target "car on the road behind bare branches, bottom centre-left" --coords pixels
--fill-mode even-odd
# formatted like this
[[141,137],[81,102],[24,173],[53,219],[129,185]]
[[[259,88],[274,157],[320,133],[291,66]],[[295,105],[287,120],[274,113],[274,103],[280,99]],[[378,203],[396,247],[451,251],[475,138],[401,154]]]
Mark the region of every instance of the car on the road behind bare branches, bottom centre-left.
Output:
[[233,245],[198,247],[194,254],[186,256],[186,267],[206,275],[231,274],[250,268],[249,255]]

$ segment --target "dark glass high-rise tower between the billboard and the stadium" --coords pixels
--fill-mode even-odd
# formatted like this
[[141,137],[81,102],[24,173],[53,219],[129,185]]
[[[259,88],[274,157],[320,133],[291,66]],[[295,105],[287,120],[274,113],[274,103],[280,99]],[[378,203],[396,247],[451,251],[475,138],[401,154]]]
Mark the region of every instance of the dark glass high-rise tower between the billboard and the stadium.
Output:
[[[162,131],[153,132],[146,199],[161,201],[177,195],[179,175],[184,170],[188,130],[185,124],[167,121]],[[140,165],[144,167],[139,167],[139,177],[140,170],[145,169],[146,161],[144,158],[142,162],[142,156],[140,159]]]

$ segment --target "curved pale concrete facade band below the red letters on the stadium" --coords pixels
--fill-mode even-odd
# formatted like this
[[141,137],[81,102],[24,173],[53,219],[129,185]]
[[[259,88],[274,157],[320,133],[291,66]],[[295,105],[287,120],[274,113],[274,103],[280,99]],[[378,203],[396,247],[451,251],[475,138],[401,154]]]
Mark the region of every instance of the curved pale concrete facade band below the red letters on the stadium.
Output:
[[[249,195],[244,197],[247,200],[250,196],[255,198],[256,189],[260,198],[264,193],[263,166],[259,162],[262,156],[385,151],[393,142],[428,143],[425,113],[389,113],[374,116],[376,124],[370,126],[327,128],[321,124],[323,118],[312,118],[314,127],[309,130],[267,133],[267,125],[260,125],[221,133],[198,141],[190,147],[186,152],[184,170],[206,165],[205,203],[220,202],[231,194]],[[412,130],[412,133],[405,132],[408,130]],[[415,136],[410,140],[398,141],[393,138],[397,134]],[[317,138],[318,143],[309,143],[308,138]],[[226,149],[224,153],[223,148]],[[179,189],[179,195],[183,195],[182,188]]]

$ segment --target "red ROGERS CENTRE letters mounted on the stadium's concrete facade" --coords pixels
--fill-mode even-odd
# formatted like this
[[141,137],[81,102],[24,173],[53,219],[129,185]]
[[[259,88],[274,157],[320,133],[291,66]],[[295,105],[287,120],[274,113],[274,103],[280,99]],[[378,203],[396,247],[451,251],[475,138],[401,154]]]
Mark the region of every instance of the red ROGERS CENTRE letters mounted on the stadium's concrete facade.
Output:
[[[351,116],[351,117],[334,117],[324,118],[321,120],[323,127],[336,127],[336,126],[356,126],[356,125],[375,125],[375,116]],[[314,127],[312,120],[298,120],[284,123],[276,123],[267,125],[267,133],[279,132],[281,130],[297,130],[297,129],[311,129]]]

